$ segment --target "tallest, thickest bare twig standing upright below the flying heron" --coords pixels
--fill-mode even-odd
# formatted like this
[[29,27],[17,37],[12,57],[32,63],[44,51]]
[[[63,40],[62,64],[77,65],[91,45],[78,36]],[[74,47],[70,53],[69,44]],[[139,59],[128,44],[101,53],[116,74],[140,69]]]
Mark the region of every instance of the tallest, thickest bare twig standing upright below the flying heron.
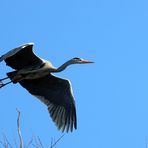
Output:
[[16,109],[18,112],[18,118],[17,118],[17,131],[18,131],[18,136],[20,140],[20,148],[23,148],[23,140],[22,140],[22,135],[21,135],[21,130],[20,130],[20,111]]

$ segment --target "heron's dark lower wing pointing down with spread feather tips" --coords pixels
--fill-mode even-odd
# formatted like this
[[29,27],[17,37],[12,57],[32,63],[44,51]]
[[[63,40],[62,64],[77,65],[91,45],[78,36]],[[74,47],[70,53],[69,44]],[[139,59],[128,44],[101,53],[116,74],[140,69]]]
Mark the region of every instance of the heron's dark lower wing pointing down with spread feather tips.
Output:
[[50,74],[19,83],[48,106],[50,116],[59,130],[72,132],[73,128],[77,128],[75,101],[68,80]]

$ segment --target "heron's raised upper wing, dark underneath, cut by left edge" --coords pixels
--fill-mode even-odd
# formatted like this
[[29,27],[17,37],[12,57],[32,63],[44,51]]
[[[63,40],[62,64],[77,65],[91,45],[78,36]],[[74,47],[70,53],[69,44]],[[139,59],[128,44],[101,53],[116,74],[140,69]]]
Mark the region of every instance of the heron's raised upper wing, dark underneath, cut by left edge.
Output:
[[8,66],[16,70],[42,64],[43,61],[33,53],[32,47],[33,43],[28,43],[12,49],[0,57],[0,62],[4,60]]

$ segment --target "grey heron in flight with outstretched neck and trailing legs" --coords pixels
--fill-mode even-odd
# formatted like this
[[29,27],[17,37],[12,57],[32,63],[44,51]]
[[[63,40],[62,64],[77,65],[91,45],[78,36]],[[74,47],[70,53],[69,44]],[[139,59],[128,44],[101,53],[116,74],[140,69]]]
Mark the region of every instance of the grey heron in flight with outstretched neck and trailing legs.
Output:
[[[57,129],[61,132],[73,132],[77,129],[75,99],[71,82],[55,76],[71,64],[93,63],[82,58],[72,58],[58,68],[51,62],[38,57],[33,52],[34,43],[26,43],[14,48],[0,57],[14,71],[6,73],[7,77],[0,79],[0,88],[9,83],[19,83],[30,94],[47,105],[48,112]],[[6,82],[6,79],[10,79]]]

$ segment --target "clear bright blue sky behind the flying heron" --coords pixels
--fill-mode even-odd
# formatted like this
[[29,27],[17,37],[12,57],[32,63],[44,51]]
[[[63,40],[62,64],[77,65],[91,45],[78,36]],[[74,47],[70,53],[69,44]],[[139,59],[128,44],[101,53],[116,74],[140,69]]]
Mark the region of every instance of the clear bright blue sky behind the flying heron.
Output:
[[[146,0],[0,0],[0,54],[27,42],[59,66],[72,57],[95,64],[73,65],[57,76],[69,79],[78,129],[58,148],[145,148],[148,138],[148,2]],[[0,77],[11,68],[0,63]],[[33,136],[50,145],[61,136],[47,108],[25,89],[0,90],[0,134],[13,143],[16,108],[24,143]]]

